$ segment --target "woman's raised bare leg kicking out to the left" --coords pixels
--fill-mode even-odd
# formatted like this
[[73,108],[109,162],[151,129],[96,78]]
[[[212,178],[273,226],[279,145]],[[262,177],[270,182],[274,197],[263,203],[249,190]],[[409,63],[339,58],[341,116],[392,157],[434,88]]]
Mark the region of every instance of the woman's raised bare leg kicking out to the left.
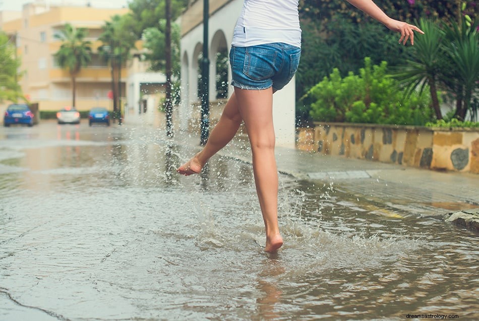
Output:
[[193,156],[190,161],[180,166],[176,172],[186,176],[200,173],[208,159],[231,141],[242,121],[243,119],[239,114],[236,96],[233,93],[226,103],[226,106],[224,106],[218,123],[211,131],[205,147]]

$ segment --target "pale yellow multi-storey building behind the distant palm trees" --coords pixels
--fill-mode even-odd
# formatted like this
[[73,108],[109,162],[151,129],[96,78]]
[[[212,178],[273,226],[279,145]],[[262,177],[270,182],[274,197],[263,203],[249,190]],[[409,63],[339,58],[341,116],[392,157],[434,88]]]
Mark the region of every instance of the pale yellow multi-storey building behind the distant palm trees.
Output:
[[[0,29],[6,32],[17,45],[24,72],[19,83],[24,95],[43,111],[56,111],[72,104],[72,85],[68,70],[59,67],[54,59],[61,41],[54,35],[70,23],[77,28],[86,28],[85,40],[92,43],[92,61],[82,68],[77,77],[76,105],[79,110],[95,106],[112,109],[108,98],[111,90],[111,75],[107,64],[98,56],[101,43],[98,37],[102,26],[114,15],[124,15],[129,9],[100,9],[78,6],[47,6],[27,4],[22,12],[0,12]],[[122,93],[126,95],[128,70],[122,70]]]

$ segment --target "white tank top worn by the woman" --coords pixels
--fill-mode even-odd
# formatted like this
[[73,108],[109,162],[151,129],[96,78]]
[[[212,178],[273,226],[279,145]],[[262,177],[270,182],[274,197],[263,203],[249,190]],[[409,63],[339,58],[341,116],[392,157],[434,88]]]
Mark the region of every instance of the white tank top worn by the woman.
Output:
[[298,0],[244,0],[231,44],[237,47],[284,42],[301,47]]

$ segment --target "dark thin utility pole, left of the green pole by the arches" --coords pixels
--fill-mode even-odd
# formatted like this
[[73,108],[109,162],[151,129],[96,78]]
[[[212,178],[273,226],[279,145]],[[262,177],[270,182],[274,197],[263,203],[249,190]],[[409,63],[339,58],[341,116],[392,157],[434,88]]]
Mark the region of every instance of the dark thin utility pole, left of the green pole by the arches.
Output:
[[171,101],[171,0],[165,1],[165,73],[166,73],[166,97],[165,97],[165,116],[166,116],[166,136],[173,137],[173,120]]

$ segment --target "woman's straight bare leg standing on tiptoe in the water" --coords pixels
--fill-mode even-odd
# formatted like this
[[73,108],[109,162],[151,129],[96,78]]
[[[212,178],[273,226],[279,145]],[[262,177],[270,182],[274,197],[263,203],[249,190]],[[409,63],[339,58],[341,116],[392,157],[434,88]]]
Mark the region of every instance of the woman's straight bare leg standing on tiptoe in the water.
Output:
[[278,172],[274,156],[273,90],[234,88],[239,113],[245,122],[253,153],[256,192],[266,230],[265,251],[283,245],[278,226]]

